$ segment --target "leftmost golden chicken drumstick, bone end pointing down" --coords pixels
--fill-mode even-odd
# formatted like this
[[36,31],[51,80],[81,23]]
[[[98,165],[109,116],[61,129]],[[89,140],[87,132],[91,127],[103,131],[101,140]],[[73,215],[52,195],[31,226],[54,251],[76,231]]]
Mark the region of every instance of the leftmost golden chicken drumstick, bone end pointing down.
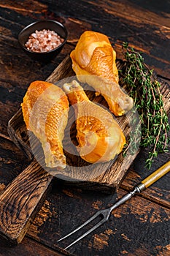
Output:
[[62,140],[69,111],[66,94],[52,83],[34,81],[21,106],[27,129],[42,143],[46,166],[65,168]]

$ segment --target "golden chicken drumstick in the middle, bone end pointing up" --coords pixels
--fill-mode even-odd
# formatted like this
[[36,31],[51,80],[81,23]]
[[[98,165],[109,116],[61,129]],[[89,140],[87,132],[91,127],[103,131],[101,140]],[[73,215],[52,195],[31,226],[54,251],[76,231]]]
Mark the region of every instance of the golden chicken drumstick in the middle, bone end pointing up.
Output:
[[76,80],[65,83],[77,117],[77,140],[82,159],[87,162],[107,162],[122,151],[125,136],[108,110],[91,102]]

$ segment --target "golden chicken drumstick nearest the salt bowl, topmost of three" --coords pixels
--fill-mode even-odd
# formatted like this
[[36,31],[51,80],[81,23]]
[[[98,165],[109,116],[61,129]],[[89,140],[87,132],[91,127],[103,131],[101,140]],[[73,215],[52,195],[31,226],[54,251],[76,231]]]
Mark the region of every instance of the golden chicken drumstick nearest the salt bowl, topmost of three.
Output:
[[115,116],[131,110],[134,101],[120,89],[116,53],[107,36],[85,31],[70,56],[78,80],[102,94]]

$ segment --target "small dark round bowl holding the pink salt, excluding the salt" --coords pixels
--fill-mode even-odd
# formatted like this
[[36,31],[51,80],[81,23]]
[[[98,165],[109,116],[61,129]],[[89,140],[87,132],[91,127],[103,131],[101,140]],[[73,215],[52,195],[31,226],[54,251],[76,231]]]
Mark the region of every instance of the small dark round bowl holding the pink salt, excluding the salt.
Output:
[[[28,41],[28,37],[36,30],[42,29],[50,29],[55,31],[60,37],[64,39],[64,41],[57,48],[43,53],[36,53],[32,50],[28,50],[25,46],[26,42]],[[26,26],[26,28],[24,28],[22,31],[20,31],[20,34],[18,35],[18,42],[20,43],[21,48],[23,48],[23,50],[28,54],[29,57],[31,57],[31,59],[34,59],[36,61],[49,62],[54,59],[58,55],[58,53],[61,52],[63,45],[65,45],[66,43],[67,36],[68,32],[66,30],[66,27],[58,21],[39,20],[31,23],[30,25]]]

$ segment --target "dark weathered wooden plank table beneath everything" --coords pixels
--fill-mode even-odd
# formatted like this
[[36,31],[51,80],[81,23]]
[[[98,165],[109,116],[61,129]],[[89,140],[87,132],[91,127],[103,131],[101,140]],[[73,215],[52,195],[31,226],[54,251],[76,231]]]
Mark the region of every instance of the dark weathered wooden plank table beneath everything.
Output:
[[[158,78],[170,80],[170,2],[165,1],[0,1],[0,192],[20,173],[29,160],[7,132],[9,119],[20,108],[29,83],[46,80],[75,47],[85,30],[107,34],[121,59],[122,42],[142,51],[144,60]],[[64,23],[68,41],[60,55],[48,64],[32,61],[18,45],[18,33],[39,19]],[[170,118],[170,116],[169,116]],[[67,252],[62,248],[71,239],[57,240],[125,195],[142,178],[169,160],[168,154],[155,159],[150,170],[144,167],[148,149],[140,151],[114,195],[68,187],[55,179],[25,238],[18,246],[0,240],[0,255],[170,255],[170,173],[142,195],[136,195],[112,212],[109,221]]]

